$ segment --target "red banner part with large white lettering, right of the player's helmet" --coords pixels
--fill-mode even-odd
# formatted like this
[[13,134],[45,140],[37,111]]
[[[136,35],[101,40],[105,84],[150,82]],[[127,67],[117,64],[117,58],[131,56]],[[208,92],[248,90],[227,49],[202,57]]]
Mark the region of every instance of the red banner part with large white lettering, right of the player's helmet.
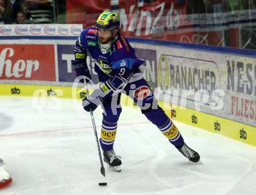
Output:
[[[150,3],[119,1],[122,33],[127,37],[176,41],[175,31],[187,12],[187,1],[157,0]],[[193,32],[191,32],[193,33]]]

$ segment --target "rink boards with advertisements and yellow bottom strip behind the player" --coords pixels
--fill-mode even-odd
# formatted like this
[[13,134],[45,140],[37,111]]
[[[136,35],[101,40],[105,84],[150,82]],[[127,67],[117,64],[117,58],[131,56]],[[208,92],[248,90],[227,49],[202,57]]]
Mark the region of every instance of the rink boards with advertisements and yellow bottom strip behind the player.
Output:
[[[2,39],[0,95],[32,96],[44,86],[47,96],[72,98],[75,41],[36,39],[31,44],[31,39]],[[159,42],[130,43],[148,64],[144,78],[159,102],[172,105],[165,109],[170,117],[256,146],[256,57]],[[90,57],[87,64],[97,82]],[[77,98],[83,96],[79,91]]]

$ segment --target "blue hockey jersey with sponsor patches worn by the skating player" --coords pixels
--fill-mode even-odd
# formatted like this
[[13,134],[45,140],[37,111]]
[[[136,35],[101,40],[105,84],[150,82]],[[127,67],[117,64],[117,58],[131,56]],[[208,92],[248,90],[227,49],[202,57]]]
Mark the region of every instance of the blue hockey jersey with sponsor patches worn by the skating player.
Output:
[[86,60],[87,54],[95,63],[102,91],[113,95],[119,93],[128,82],[143,78],[138,66],[144,64],[135,55],[135,50],[123,35],[119,34],[112,42],[111,48],[104,50],[98,40],[94,27],[84,29],[76,41],[74,48],[76,60]]

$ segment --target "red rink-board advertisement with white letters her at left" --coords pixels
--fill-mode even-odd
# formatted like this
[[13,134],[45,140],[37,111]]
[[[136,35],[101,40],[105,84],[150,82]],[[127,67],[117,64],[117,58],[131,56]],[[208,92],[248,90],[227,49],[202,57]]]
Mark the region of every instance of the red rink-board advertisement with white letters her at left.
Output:
[[54,45],[0,45],[0,79],[56,81]]

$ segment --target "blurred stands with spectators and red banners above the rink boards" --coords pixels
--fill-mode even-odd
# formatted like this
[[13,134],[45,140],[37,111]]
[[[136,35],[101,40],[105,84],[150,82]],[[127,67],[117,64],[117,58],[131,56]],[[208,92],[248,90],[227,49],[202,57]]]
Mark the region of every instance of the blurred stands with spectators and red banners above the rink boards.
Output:
[[256,0],[0,0],[0,24],[81,23],[120,15],[126,37],[256,49]]

